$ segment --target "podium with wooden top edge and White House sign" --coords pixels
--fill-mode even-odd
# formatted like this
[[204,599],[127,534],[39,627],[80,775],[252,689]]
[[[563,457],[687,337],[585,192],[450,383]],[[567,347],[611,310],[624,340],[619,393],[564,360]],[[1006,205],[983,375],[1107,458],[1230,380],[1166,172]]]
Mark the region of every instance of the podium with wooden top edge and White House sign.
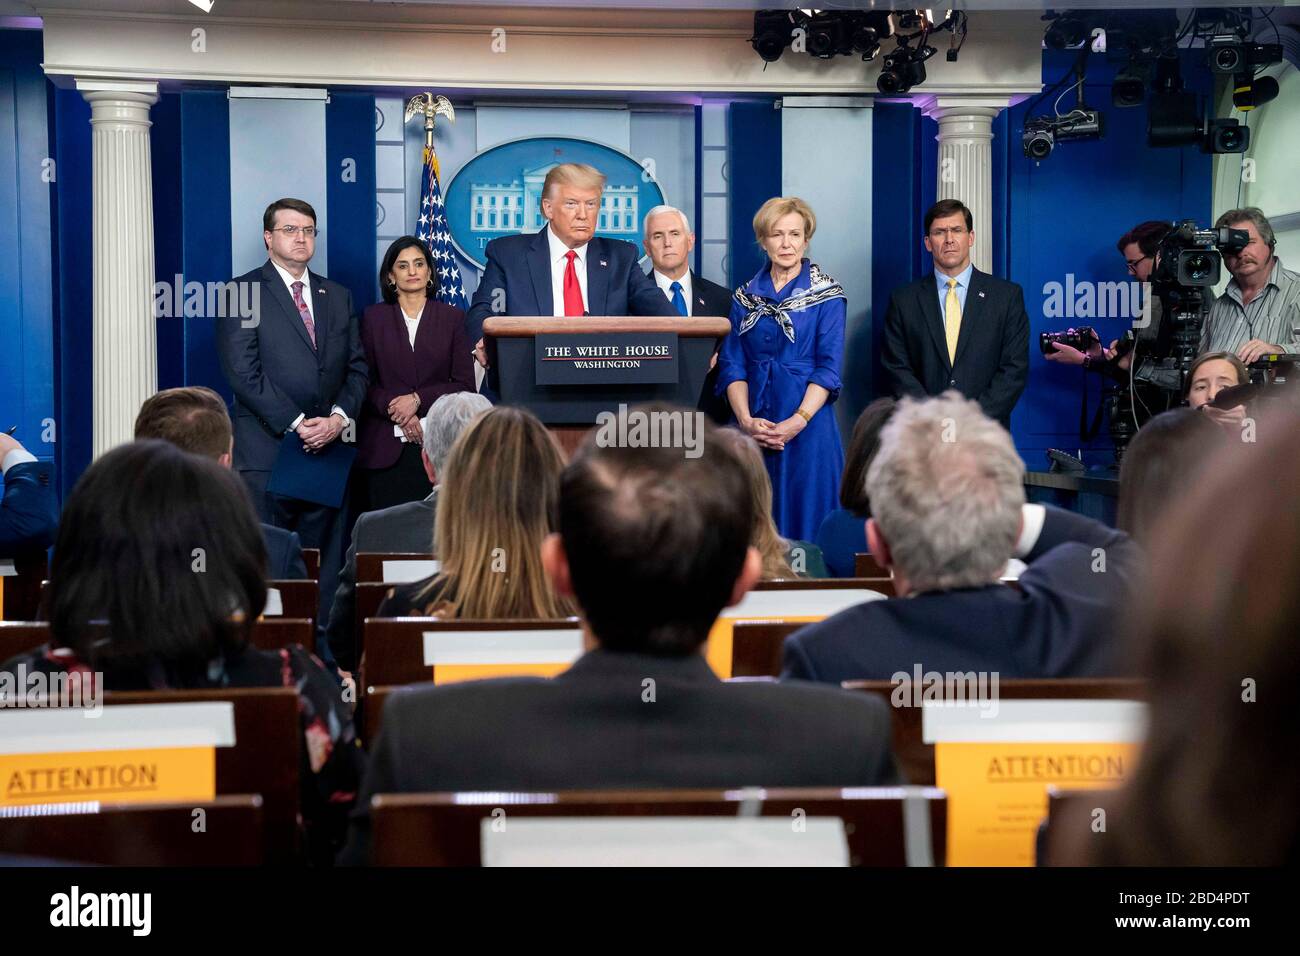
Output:
[[532,411],[572,453],[601,412],[671,402],[697,408],[719,316],[499,316],[484,323],[488,385],[504,405]]

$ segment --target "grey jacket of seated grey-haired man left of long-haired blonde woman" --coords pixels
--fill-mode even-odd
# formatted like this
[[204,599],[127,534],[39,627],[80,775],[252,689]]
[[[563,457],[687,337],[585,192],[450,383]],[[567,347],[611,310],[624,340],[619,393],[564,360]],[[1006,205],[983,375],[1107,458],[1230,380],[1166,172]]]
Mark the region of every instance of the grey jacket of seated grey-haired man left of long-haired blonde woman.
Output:
[[433,553],[433,519],[438,511],[438,489],[429,492],[424,501],[408,501],[403,505],[367,511],[356,519],[352,528],[352,544],[347,549],[347,559],[338,575],[338,591],[334,592],[334,606],[329,614],[329,627],[324,639],[346,671],[355,670],[361,659],[361,635],[356,633],[356,555],[367,553],[413,554]]

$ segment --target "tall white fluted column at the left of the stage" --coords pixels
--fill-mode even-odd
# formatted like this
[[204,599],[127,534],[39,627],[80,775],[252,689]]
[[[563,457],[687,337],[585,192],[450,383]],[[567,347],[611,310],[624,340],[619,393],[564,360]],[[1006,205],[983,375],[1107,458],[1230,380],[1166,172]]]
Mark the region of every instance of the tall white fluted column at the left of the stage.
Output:
[[150,107],[157,83],[78,79],[90,103],[94,178],[94,453],[130,441],[157,392]]

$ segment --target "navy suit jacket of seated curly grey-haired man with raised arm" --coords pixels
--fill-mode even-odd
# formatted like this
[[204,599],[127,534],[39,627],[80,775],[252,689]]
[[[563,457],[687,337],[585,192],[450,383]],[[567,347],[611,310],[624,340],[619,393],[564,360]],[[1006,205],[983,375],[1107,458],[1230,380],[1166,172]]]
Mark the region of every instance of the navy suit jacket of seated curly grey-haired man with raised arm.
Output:
[[[1093,570],[1098,548],[1105,572]],[[1019,589],[991,584],[849,607],[785,639],[783,676],[889,680],[916,665],[1001,678],[1115,676],[1123,665],[1113,635],[1140,559],[1123,532],[1049,507]]]

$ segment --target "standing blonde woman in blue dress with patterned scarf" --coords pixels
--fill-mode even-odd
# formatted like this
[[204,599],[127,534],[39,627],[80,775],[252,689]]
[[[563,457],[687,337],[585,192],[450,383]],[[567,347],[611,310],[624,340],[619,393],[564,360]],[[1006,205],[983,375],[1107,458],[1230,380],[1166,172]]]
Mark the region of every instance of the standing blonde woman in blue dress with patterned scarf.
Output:
[[803,258],[816,217],[802,199],[768,199],[754,237],[768,263],[732,297],[718,390],[763,449],[772,518],[810,540],[838,499],[844,449],[831,405],[840,394],[844,289]]

